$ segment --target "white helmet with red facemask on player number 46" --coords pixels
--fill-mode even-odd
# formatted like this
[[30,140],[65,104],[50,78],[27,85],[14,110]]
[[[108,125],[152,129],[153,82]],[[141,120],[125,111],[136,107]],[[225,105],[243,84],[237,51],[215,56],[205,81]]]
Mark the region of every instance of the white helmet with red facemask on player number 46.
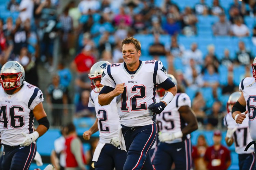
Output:
[[[15,75],[15,78],[5,80],[5,77],[10,75]],[[11,90],[23,85],[25,79],[25,70],[18,62],[9,61],[2,66],[0,77],[3,89]]]

